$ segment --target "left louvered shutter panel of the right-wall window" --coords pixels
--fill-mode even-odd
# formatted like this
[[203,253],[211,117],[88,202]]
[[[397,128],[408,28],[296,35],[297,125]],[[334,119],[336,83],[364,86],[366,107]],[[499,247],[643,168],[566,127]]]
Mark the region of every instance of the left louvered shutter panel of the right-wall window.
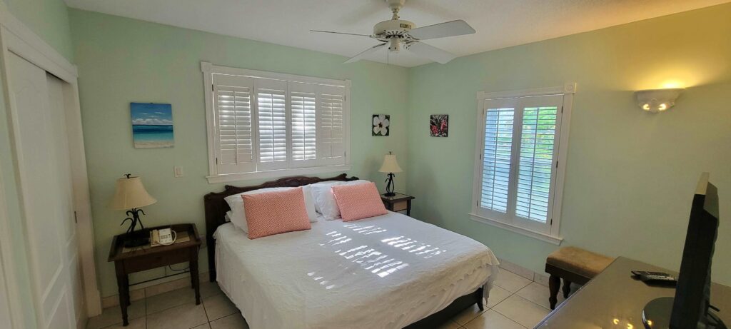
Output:
[[507,213],[514,115],[512,108],[493,108],[485,113],[480,203],[501,213]]

